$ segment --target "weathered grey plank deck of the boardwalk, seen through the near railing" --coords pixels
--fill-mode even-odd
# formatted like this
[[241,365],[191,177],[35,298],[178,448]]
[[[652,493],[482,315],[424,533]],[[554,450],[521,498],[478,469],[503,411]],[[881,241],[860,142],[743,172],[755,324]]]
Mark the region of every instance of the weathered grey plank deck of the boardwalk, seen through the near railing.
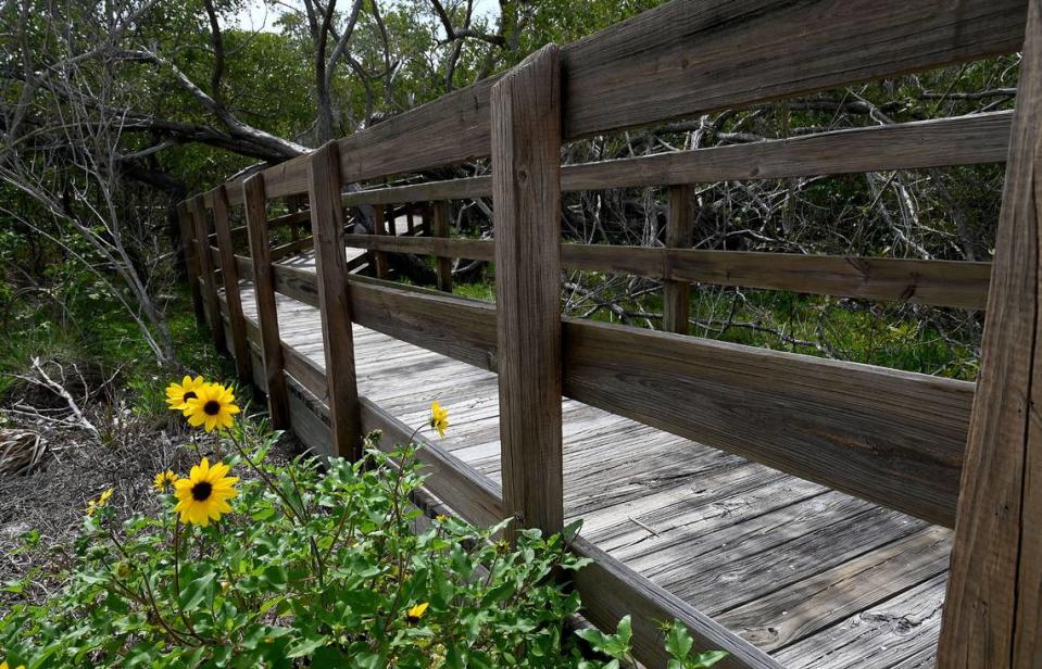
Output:
[[[277,304],[284,343],[324,368],[318,310]],[[360,394],[409,426],[437,400],[451,422],[438,443],[499,481],[495,375],[353,328]],[[579,402],[562,409],[566,516],[599,547],[787,667],[933,665],[950,530]]]

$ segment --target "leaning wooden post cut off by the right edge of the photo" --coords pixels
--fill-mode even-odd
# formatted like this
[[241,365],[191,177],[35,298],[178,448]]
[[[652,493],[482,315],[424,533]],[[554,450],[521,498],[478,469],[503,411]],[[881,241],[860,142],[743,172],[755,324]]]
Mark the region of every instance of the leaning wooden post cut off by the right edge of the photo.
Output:
[[1042,666],[1042,0],[1028,11],[938,666]]

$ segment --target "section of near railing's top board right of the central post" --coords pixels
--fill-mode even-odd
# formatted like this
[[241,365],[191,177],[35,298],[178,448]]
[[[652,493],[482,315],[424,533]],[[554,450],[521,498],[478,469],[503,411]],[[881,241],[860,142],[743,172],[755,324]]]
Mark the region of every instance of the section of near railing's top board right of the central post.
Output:
[[668,2],[563,50],[564,136],[1015,51],[1026,7],[1024,0]]

